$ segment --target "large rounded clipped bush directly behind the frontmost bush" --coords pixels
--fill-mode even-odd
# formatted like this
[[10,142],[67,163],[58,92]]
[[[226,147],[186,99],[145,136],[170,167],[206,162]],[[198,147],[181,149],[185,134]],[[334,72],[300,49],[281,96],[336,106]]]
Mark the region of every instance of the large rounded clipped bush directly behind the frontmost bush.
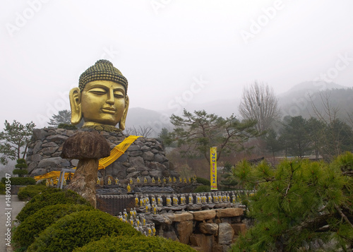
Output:
[[102,236],[128,236],[143,235],[130,224],[121,222],[100,210],[73,212],[57,220],[40,233],[35,242],[28,247],[31,251],[65,252],[84,246],[90,241],[97,241]]

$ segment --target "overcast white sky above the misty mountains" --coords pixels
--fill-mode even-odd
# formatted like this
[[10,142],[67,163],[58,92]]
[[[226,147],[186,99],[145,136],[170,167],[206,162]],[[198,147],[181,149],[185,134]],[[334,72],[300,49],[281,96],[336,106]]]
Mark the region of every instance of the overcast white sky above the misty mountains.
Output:
[[352,0],[6,0],[1,128],[47,126],[98,59],[128,79],[131,107],[155,110],[235,99],[253,80],[277,94],[323,74],[352,87],[352,12]]

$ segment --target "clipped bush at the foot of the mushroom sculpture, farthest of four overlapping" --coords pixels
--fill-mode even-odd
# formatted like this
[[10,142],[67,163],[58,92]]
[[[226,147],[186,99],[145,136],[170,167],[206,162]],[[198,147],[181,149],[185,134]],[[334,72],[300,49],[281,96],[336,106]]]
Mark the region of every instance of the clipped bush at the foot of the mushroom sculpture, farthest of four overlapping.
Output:
[[61,190],[57,188],[46,188],[42,193],[33,197],[30,202],[25,204],[17,215],[17,220],[23,222],[28,216],[37,212],[47,205],[56,204],[83,204],[90,205],[87,200],[79,196],[74,191]]

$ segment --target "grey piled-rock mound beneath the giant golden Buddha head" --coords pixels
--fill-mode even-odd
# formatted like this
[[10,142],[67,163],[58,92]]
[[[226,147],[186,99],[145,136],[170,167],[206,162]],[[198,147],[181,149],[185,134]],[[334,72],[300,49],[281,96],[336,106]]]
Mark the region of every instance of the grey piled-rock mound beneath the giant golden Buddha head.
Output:
[[[78,160],[62,159],[60,155],[64,141],[78,131],[92,131],[92,129],[35,128],[27,156],[30,176],[76,167]],[[122,133],[98,132],[108,140],[111,149],[126,138]],[[179,178],[179,174],[174,172],[164,155],[162,143],[155,138],[143,137],[136,139],[118,160],[98,172],[98,177],[105,181],[103,184],[107,184],[107,176],[119,179],[122,185],[127,185],[130,178],[133,184],[136,184],[137,177],[142,181],[146,178],[148,181],[146,185],[151,184],[152,177]]]

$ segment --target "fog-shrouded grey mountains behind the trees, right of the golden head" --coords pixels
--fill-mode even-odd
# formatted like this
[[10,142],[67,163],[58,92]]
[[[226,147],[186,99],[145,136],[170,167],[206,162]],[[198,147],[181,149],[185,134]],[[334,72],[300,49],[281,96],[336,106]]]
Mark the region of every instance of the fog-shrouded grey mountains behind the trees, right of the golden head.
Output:
[[[336,83],[306,81],[290,88],[287,92],[277,95],[282,116],[304,116],[309,118],[314,116],[311,100],[319,109],[323,109],[321,96],[328,94],[330,102],[335,107],[340,107],[340,119],[347,118],[347,113],[353,114],[353,88],[347,88]],[[234,100],[218,100],[205,103],[186,104],[185,108],[189,112],[205,109],[208,113],[227,117],[234,114],[239,118],[238,107],[241,98],[234,97]],[[126,128],[151,127],[153,132],[149,137],[157,137],[162,128],[172,130],[173,126],[169,122],[172,114],[181,115],[182,109],[155,111],[133,107],[128,109]]]

